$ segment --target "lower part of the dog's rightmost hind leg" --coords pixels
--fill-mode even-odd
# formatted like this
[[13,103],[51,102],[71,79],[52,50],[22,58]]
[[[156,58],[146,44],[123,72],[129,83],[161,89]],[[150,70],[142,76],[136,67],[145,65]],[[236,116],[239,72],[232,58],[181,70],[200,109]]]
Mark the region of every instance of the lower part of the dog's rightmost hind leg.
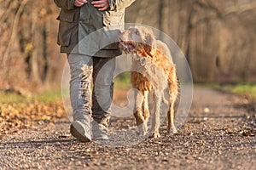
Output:
[[171,104],[167,114],[167,117],[168,117],[167,131],[168,133],[171,133],[171,128],[172,128],[173,133],[177,133],[177,129],[174,125],[174,103],[175,103],[176,97],[173,94],[171,94],[170,100],[171,100]]

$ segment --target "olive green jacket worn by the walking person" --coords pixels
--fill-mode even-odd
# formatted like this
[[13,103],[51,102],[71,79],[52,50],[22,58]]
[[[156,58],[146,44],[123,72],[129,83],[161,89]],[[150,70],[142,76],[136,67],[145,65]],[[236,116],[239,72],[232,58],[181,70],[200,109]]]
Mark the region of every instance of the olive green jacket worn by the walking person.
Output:
[[[75,7],[75,0],[54,0],[61,8],[57,18],[59,32],[57,43],[61,53],[89,54],[112,57],[120,54],[114,42],[117,29],[124,25],[125,8],[135,0],[108,0],[109,8],[99,11],[88,0],[82,7]],[[78,45],[79,44],[79,45]]]

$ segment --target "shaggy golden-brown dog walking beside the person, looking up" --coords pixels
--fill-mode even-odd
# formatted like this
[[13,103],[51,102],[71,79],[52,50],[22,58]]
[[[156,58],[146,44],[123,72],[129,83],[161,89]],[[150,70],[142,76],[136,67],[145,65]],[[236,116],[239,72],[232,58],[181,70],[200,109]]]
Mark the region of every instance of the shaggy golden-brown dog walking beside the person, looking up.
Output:
[[[149,137],[159,138],[160,103],[168,103],[168,133],[177,133],[174,125],[174,104],[178,95],[178,81],[172,55],[166,43],[156,40],[154,32],[145,26],[130,27],[119,31],[119,48],[126,54],[132,54],[131,84],[137,88],[134,116],[139,132],[145,135],[150,116],[148,93],[154,94],[154,110]],[[169,100],[165,99],[164,90],[168,89]],[[172,130],[171,130],[172,129]]]

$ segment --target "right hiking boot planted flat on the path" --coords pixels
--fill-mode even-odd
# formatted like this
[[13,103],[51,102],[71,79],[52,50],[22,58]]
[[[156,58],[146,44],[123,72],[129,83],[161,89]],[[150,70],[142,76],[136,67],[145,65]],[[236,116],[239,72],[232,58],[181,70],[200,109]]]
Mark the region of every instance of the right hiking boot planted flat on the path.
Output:
[[108,140],[108,127],[96,121],[92,121],[91,125],[93,140]]

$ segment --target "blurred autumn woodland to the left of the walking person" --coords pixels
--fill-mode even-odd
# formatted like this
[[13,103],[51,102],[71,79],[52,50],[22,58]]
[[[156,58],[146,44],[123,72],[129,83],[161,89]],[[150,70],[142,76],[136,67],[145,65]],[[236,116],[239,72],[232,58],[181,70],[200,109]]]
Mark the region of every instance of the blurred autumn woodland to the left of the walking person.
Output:
[[31,89],[61,80],[65,58],[55,42],[57,14],[50,0],[1,1],[0,88]]

